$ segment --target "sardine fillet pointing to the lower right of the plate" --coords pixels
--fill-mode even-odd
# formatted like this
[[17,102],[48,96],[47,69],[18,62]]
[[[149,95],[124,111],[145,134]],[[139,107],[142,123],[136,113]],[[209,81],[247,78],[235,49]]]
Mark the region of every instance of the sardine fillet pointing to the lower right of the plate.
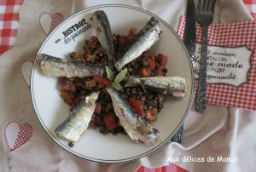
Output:
[[115,89],[108,88],[107,91],[111,97],[114,112],[131,140],[148,146],[153,145],[159,138],[159,131],[138,116]]

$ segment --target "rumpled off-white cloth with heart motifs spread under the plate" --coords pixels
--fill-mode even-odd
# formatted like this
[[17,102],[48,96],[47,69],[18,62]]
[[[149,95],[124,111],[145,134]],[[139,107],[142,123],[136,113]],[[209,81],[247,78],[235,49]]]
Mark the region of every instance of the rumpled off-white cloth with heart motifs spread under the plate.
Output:
[[[90,6],[124,3],[147,9],[177,30],[185,0],[26,0],[20,11],[20,26],[14,48],[0,56],[0,171],[133,171],[143,164],[157,167],[175,163],[189,171],[253,171],[256,162],[256,112],[224,106],[207,106],[204,113],[193,105],[184,124],[182,144],[171,143],[154,154],[132,163],[93,163],[77,158],[57,146],[44,132],[33,111],[30,89],[20,73],[24,60],[33,60],[46,37],[39,25],[40,14],[60,13],[64,18]],[[197,1],[195,2],[195,4]],[[253,20],[241,0],[218,0],[214,22]],[[10,152],[4,129],[11,121],[30,123],[32,139],[20,150]],[[234,158],[233,163],[183,162],[188,156]],[[172,162],[171,158],[180,158]],[[233,159],[233,160],[234,160]]]

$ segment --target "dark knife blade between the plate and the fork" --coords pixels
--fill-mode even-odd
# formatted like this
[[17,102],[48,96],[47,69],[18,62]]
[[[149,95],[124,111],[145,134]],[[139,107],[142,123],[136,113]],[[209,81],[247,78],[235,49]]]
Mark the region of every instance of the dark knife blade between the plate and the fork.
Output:
[[190,58],[195,55],[195,39],[195,3],[194,0],[188,0],[186,9],[184,43],[189,51]]

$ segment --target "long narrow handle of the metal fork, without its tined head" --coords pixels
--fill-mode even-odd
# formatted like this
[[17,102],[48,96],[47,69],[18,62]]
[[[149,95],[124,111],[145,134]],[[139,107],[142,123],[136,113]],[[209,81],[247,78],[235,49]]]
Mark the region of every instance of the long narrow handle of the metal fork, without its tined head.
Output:
[[202,26],[201,65],[200,65],[197,95],[196,95],[196,101],[195,101],[195,110],[198,112],[204,112],[206,110],[207,34],[208,34],[208,26]]

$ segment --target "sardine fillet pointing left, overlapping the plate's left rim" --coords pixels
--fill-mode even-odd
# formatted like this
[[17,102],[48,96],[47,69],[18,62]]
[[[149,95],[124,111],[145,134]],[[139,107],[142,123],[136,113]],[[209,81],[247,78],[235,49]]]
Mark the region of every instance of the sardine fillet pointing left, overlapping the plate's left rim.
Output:
[[52,77],[91,77],[103,75],[103,68],[82,61],[67,61],[49,54],[39,54],[38,60],[44,75]]

